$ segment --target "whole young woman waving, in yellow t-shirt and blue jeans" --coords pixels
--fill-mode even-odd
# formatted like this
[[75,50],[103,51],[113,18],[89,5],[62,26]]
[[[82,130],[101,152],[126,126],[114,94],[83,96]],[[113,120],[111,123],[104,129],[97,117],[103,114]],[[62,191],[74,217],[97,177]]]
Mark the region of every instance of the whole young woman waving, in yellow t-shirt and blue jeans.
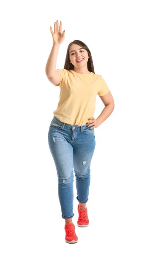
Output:
[[[76,177],[79,218],[77,225],[87,227],[89,219],[86,203],[90,186],[90,163],[95,149],[94,128],[99,127],[113,112],[114,101],[101,75],[94,72],[91,52],[82,41],[74,40],[68,45],[65,65],[56,70],[56,58],[60,44],[65,39],[58,20],[54,32],[50,26],[53,47],[46,64],[48,80],[60,88],[57,109],[48,131],[48,144],[58,176],[58,195],[65,219],[65,241],[76,243],[78,237],[72,222],[73,213],[73,169]],[[99,117],[93,117],[96,95],[104,103]]]

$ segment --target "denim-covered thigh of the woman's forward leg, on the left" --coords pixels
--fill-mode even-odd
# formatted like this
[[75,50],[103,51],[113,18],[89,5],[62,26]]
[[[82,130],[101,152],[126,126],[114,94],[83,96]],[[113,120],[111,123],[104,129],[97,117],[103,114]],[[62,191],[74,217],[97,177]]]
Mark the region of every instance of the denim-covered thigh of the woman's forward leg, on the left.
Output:
[[59,127],[50,125],[48,145],[59,177],[73,177],[73,147],[60,132]]

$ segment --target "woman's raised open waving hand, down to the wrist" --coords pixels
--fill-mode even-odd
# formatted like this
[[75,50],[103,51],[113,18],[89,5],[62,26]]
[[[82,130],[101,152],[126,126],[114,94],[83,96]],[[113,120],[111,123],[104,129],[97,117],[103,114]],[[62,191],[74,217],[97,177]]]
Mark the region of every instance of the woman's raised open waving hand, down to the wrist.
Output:
[[65,30],[63,30],[62,32],[62,22],[60,21],[60,27],[59,27],[59,22],[58,20],[56,20],[56,22],[54,23],[54,32],[51,26],[50,26],[50,30],[52,33],[54,44],[61,44],[65,39]]

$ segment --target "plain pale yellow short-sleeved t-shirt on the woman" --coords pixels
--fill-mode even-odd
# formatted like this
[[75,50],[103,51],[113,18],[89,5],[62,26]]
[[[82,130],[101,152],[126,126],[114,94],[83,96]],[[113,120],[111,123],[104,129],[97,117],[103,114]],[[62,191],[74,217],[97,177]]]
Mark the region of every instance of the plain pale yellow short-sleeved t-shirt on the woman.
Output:
[[61,74],[59,102],[53,112],[60,121],[70,125],[86,125],[94,116],[96,95],[103,96],[110,90],[101,75],[93,72],[80,74],[74,70],[57,70]]

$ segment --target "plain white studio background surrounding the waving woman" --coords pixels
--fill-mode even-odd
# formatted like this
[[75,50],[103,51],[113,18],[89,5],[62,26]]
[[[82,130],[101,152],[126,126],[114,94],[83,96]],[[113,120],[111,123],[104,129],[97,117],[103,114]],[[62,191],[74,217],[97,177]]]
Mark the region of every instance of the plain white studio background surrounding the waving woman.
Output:
[[[155,255],[154,1],[7,1],[0,8],[0,254],[51,256]],[[45,66],[62,21],[56,69],[68,44],[81,40],[115,101],[95,128],[87,202],[90,224],[65,242],[48,128],[59,87]],[[104,108],[96,96],[97,118]]]

